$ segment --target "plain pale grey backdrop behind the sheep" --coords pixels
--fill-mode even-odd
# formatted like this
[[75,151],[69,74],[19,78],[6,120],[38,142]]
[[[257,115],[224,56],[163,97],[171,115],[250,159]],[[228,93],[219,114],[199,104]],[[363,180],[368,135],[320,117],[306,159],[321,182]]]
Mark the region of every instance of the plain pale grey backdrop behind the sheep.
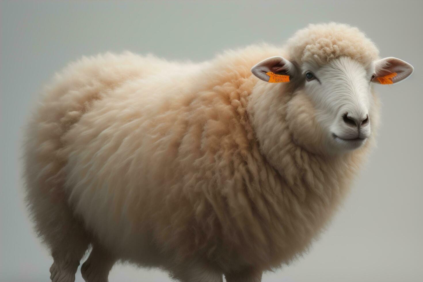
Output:
[[[19,157],[22,127],[55,71],[109,50],[197,62],[261,41],[283,44],[308,23],[335,21],[359,27],[381,57],[406,60],[415,72],[399,85],[375,86],[383,102],[378,148],[310,252],[263,281],[422,281],[422,3],[3,1],[0,280],[49,277],[52,259],[34,235],[22,200]],[[79,271],[76,279],[82,281]],[[170,279],[157,270],[117,265],[110,282],[120,281]]]

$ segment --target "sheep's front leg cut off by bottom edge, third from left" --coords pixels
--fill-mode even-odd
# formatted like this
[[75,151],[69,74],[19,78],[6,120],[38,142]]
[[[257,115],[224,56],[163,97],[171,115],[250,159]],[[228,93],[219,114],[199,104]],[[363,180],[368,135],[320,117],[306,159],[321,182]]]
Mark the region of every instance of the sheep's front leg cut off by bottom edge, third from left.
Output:
[[223,282],[222,272],[200,262],[174,266],[172,276],[181,282]]

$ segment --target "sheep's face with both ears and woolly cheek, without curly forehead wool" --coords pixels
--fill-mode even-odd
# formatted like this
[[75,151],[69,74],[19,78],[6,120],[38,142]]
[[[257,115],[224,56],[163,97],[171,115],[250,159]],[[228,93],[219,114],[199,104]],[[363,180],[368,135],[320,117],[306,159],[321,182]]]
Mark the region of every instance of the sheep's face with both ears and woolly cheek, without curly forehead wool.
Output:
[[371,137],[372,120],[377,118],[373,82],[399,82],[413,67],[393,57],[364,66],[344,56],[323,65],[305,62],[301,66],[271,57],[252,68],[260,79],[274,82],[269,71],[289,75],[294,95],[287,122],[294,140],[313,151],[342,153],[360,148]]

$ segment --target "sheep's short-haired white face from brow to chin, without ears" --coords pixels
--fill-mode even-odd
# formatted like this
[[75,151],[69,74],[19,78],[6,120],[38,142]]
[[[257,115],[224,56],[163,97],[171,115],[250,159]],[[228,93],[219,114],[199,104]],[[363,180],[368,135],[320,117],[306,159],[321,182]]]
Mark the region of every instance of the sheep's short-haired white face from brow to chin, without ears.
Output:
[[350,57],[331,60],[324,66],[302,66],[304,90],[326,134],[328,151],[356,149],[370,137],[373,73],[372,66],[366,68]]

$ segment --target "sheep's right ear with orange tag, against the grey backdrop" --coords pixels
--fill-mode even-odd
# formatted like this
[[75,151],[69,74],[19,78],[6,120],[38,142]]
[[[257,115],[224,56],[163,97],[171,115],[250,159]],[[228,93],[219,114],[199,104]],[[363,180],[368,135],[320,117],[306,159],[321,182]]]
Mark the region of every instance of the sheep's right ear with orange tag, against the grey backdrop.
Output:
[[414,71],[412,65],[394,57],[378,60],[374,64],[375,71],[372,82],[379,84],[394,84],[400,82],[409,77]]

